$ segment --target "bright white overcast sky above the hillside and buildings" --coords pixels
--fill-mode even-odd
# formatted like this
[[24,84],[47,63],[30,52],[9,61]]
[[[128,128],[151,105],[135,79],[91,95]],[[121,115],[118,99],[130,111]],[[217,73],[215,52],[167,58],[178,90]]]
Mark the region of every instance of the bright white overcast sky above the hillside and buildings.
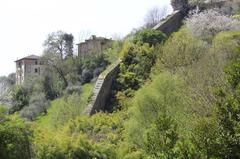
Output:
[[51,32],[72,33],[75,44],[90,35],[123,37],[155,6],[171,12],[170,0],[1,0],[0,76],[15,72],[15,60],[41,55]]

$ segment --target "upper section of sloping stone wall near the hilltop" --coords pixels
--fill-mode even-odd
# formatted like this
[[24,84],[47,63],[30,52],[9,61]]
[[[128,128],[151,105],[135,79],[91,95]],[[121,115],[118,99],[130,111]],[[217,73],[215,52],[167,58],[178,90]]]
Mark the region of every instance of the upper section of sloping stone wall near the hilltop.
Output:
[[181,27],[182,21],[185,17],[185,13],[177,10],[174,11],[170,16],[168,16],[165,20],[162,20],[159,24],[157,24],[153,29],[160,30],[166,35],[171,34],[173,31],[177,30]]

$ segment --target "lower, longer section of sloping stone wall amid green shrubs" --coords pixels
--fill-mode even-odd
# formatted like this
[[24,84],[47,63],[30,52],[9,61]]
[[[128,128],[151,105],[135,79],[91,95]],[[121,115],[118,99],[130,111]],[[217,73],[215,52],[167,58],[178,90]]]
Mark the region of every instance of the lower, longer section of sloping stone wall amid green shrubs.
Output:
[[109,66],[107,70],[98,77],[90,101],[85,109],[85,114],[93,115],[96,112],[106,109],[112,83],[119,72],[120,62],[121,60],[118,60]]

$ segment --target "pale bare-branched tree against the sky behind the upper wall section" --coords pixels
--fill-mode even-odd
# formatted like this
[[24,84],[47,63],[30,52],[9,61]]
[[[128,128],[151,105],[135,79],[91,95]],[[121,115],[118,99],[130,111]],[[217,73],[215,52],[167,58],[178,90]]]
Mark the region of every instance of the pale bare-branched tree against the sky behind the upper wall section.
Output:
[[152,28],[157,25],[167,14],[167,7],[153,7],[145,16],[145,27]]

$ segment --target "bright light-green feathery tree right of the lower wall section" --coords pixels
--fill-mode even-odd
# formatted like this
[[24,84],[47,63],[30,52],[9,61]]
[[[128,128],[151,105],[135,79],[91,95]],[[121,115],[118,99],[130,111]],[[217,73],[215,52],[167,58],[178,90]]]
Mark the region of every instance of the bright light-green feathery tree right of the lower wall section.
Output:
[[[142,138],[150,130],[151,133],[149,133],[155,137],[151,138],[149,134],[149,144],[162,142],[159,147],[154,148],[153,146],[151,148],[154,153],[155,151],[164,151],[164,147],[171,147],[170,143],[164,143],[164,139],[169,141],[169,138],[173,139],[176,137],[176,124],[172,119],[180,123],[183,122],[181,120],[184,120],[184,118],[178,116],[185,111],[183,86],[184,84],[180,78],[164,72],[154,76],[150,84],[145,85],[135,93],[135,97],[131,102],[132,117],[126,124],[130,143],[144,148],[146,143],[144,143]],[[152,125],[153,123],[154,125]],[[160,130],[161,132],[158,134]],[[165,130],[166,132],[163,134]],[[167,134],[171,134],[170,132],[175,134],[172,136],[173,138],[167,136]],[[154,141],[159,136],[162,137],[162,140]],[[175,142],[174,140],[172,140],[172,143]],[[162,145],[163,143],[165,145]]]

